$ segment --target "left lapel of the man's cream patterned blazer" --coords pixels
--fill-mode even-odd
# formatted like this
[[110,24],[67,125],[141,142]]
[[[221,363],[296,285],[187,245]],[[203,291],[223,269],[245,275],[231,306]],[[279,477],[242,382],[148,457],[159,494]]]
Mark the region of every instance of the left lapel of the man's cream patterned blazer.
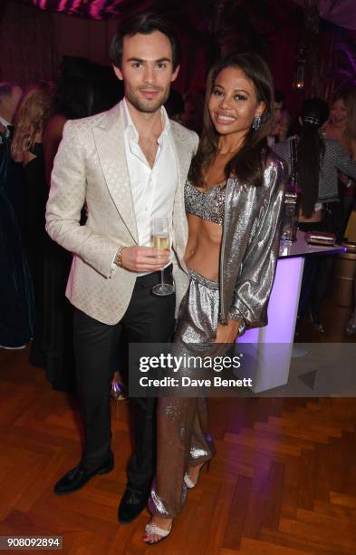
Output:
[[132,239],[139,243],[138,230],[135,218],[135,209],[132,200],[130,176],[125,156],[123,139],[123,122],[120,114],[120,103],[114,106],[93,127],[94,141],[101,163],[101,170],[107,187],[111,194],[120,217]]

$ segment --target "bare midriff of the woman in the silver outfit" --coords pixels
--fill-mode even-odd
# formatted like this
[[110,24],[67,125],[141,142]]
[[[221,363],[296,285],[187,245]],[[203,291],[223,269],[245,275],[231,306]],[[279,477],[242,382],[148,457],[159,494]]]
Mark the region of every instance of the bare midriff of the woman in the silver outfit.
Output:
[[186,264],[201,276],[218,281],[223,227],[193,214],[188,214],[187,218],[189,239]]

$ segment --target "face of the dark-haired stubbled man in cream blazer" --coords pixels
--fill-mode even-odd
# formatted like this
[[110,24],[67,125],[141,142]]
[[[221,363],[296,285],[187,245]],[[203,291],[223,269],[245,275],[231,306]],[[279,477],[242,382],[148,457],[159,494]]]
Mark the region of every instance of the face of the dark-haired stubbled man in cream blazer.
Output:
[[160,31],[125,36],[121,67],[114,66],[123,80],[127,102],[146,113],[157,112],[167,101],[178,69],[173,71],[172,48],[168,36]]

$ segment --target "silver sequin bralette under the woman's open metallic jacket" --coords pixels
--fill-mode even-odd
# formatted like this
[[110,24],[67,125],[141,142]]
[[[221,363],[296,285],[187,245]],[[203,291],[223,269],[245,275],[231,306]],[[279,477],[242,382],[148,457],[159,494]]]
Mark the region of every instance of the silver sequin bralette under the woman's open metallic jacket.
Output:
[[225,213],[225,193],[225,185],[216,185],[201,191],[187,180],[184,190],[186,212],[222,226]]

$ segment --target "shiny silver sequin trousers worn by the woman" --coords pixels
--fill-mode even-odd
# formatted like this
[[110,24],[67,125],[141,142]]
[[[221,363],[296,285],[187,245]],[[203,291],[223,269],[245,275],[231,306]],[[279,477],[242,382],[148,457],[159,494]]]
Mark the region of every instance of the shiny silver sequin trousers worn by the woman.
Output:
[[[189,353],[215,341],[219,286],[189,270],[188,292],[179,307],[174,339],[178,351]],[[194,368],[185,375],[194,377]],[[160,397],[157,408],[157,472],[149,497],[149,511],[160,517],[178,516],[187,499],[183,480],[189,467],[211,459],[214,445],[207,437],[204,397]]]

